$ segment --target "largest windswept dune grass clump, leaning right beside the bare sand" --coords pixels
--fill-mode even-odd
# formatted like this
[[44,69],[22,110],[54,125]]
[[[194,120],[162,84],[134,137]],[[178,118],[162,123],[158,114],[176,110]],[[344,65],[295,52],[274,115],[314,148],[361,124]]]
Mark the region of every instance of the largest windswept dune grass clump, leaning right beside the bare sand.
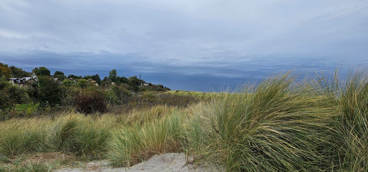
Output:
[[318,171],[335,108],[293,81],[269,78],[197,105],[186,126],[192,152],[227,171]]

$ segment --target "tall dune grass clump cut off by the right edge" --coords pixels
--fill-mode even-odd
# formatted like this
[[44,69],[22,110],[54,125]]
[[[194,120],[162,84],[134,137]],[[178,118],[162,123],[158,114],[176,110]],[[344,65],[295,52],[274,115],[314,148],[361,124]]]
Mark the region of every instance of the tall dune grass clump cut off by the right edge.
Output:
[[[368,171],[368,73],[351,69],[346,79],[340,71],[322,74],[312,80],[320,95],[338,106],[332,117],[331,171]],[[318,80],[318,81],[317,81]]]

